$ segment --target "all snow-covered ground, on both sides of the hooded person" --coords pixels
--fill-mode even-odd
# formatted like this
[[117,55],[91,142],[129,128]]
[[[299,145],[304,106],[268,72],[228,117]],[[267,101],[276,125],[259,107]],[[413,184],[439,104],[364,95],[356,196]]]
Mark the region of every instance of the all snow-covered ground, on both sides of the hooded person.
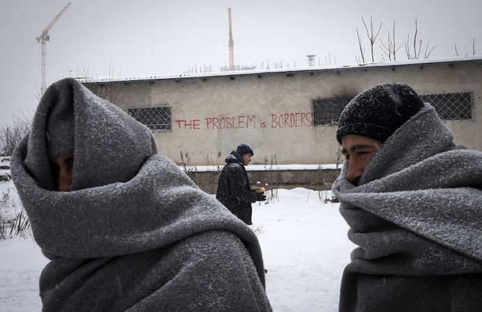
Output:
[[[354,248],[338,204],[304,188],[278,190],[278,198],[253,206],[273,311],[337,311],[342,269]],[[0,311],[40,311],[38,276],[47,264],[40,248],[28,237],[0,241],[0,264]]]

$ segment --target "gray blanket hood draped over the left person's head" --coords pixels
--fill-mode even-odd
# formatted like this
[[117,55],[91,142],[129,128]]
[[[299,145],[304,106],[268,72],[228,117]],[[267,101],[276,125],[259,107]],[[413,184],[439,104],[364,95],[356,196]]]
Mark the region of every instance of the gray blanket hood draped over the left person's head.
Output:
[[156,154],[149,128],[77,80],[66,78],[47,89],[31,130],[15,153],[42,188],[55,189],[47,156],[47,121],[53,110],[69,106],[74,114],[73,191],[128,181],[146,158]]

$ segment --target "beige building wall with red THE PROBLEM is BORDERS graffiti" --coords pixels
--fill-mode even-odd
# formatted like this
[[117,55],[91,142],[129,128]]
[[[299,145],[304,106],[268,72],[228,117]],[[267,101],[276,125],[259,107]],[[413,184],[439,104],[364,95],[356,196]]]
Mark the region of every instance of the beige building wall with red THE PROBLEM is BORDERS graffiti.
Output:
[[455,142],[482,151],[482,60],[293,72],[85,83],[123,110],[169,105],[172,131],[153,133],[176,163],[223,164],[240,143],[253,163],[335,163],[336,126],[312,126],[312,100],[354,97],[376,84],[401,82],[419,94],[472,91],[472,119],[446,121]]

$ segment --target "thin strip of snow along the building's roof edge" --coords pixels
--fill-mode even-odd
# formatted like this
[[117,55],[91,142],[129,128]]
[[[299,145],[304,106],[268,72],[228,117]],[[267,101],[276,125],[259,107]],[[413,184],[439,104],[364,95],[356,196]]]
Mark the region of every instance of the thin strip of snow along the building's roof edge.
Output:
[[407,61],[384,61],[365,64],[347,64],[333,66],[306,66],[296,68],[273,68],[273,69],[253,69],[253,70],[232,70],[232,71],[213,71],[209,73],[181,73],[172,75],[146,75],[138,77],[77,77],[81,83],[99,83],[99,82],[123,82],[137,80],[164,80],[176,78],[202,78],[202,77],[218,77],[218,76],[235,76],[235,75],[255,75],[266,73],[294,73],[301,71],[324,71],[324,70],[345,70],[347,68],[367,68],[367,67],[389,67],[389,66],[407,66],[416,64],[441,64],[464,61],[482,61],[482,56],[474,57],[450,57],[444,59],[414,59]]

